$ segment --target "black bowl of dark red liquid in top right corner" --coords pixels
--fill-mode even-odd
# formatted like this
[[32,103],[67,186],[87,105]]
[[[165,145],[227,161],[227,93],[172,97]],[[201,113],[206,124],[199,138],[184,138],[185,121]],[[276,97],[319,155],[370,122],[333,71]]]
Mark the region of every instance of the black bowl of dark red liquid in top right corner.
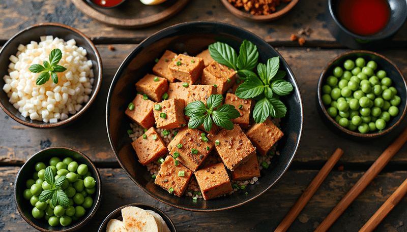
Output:
[[332,36],[353,49],[388,47],[407,19],[405,0],[328,0]]

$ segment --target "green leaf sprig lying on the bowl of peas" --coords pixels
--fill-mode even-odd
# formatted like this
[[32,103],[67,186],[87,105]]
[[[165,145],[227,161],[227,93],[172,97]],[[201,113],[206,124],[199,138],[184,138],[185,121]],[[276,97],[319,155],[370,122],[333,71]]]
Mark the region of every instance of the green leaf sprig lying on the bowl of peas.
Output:
[[48,167],[45,169],[44,177],[45,181],[50,185],[50,188],[41,192],[39,201],[45,202],[48,199],[51,199],[53,206],[61,205],[65,208],[69,207],[69,198],[60,188],[64,183],[66,176],[61,176],[55,180],[52,169]]

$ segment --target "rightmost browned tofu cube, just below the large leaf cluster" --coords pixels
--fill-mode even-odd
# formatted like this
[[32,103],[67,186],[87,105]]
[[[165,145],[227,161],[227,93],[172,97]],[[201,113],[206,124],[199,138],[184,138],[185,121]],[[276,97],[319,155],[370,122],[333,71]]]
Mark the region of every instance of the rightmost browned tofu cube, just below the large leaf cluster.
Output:
[[246,131],[247,137],[257,148],[257,152],[266,155],[273,145],[283,137],[283,132],[267,118],[262,123],[252,125]]

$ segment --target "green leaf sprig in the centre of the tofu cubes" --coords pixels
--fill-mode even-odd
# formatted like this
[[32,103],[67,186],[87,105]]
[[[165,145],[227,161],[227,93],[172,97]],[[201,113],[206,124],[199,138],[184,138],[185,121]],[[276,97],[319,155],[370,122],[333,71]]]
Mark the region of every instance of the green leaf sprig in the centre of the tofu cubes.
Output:
[[209,131],[212,129],[213,122],[215,122],[216,125],[225,129],[233,129],[231,119],[240,117],[240,113],[235,106],[228,104],[217,108],[222,101],[223,96],[221,94],[214,94],[208,97],[206,106],[201,101],[189,103],[184,109],[185,115],[191,117],[188,127],[194,129],[203,124],[203,128]]

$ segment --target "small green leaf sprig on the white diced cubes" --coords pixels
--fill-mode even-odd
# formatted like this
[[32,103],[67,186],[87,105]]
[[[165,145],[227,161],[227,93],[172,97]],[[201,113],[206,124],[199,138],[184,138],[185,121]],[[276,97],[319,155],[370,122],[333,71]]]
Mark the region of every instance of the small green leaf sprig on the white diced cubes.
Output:
[[67,70],[65,67],[58,65],[61,58],[62,51],[59,48],[56,48],[49,53],[49,62],[46,60],[42,62],[44,66],[41,64],[33,64],[28,68],[32,73],[41,73],[35,81],[37,85],[45,84],[49,80],[49,77],[51,77],[55,84],[58,83],[58,76],[56,73],[62,73]]

